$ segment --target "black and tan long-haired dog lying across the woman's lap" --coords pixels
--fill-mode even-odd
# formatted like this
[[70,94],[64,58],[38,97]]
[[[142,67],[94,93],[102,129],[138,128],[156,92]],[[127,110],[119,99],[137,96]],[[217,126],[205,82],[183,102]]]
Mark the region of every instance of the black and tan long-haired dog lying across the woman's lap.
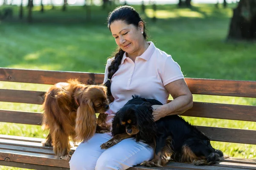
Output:
[[223,156],[210,140],[196,127],[178,115],[166,116],[154,122],[152,105],[162,105],[154,99],[133,96],[113,118],[112,135],[101,145],[107,149],[123,139],[134,137],[154,148],[154,158],[144,161],[145,166],[165,166],[173,159],[195,165],[210,165]]

